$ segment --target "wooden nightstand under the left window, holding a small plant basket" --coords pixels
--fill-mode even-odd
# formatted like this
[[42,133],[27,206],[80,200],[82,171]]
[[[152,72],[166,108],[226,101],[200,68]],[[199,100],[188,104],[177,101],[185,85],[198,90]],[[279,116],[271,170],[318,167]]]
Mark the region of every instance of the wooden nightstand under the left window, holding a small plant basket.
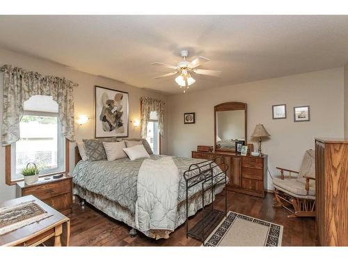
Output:
[[72,212],[72,177],[64,175],[54,179],[50,176],[49,180],[40,177],[37,182],[30,185],[24,184],[24,181],[17,182],[16,198],[27,195],[35,196],[64,215],[70,214]]

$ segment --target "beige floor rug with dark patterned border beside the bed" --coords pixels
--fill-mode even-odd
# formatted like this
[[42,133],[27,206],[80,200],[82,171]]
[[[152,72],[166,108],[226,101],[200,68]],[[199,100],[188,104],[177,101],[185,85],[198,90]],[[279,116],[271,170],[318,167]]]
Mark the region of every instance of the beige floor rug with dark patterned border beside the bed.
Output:
[[230,211],[205,246],[281,246],[282,237],[283,226]]

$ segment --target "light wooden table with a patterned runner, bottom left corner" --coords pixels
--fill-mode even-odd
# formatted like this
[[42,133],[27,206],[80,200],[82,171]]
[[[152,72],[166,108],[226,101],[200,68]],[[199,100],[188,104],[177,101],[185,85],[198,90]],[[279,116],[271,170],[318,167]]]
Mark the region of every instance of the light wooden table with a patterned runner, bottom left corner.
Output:
[[38,246],[43,242],[53,246],[69,246],[70,219],[38,198],[24,196],[0,203],[0,207],[10,207],[29,200],[35,200],[35,203],[52,216],[0,235],[0,246]]

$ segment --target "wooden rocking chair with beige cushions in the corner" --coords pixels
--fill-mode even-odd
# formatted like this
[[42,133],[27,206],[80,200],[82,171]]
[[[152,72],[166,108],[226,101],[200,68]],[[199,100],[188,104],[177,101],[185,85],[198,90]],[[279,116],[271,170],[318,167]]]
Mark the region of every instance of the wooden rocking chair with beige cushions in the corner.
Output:
[[[287,217],[315,216],[315,153],[307,150],[301,164],[300,171],[285,168],[280,170],[280,179],[273,180],[274,207],[284,207],[292,212]],[[284,177],[284,171],[289,173]],[[292,177],[292,173],[297,177]]]

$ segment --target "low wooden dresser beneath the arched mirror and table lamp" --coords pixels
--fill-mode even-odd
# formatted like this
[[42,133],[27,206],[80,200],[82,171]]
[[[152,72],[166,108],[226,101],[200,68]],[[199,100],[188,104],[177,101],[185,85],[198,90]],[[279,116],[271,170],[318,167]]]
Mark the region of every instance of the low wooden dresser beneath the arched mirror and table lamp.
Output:
[[251,196],[264,197],[267,189],[267,155],[262,157],[241,156],[235,152],[192,152],[196,159],[223,157],[228,165],[227,189]]

